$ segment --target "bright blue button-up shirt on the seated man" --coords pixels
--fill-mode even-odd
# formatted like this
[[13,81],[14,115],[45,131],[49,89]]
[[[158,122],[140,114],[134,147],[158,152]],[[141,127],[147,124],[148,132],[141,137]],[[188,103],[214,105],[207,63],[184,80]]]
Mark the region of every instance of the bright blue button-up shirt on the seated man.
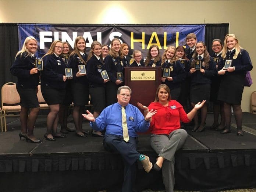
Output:
[[[129,137],[138,137],[136,132],[145,132],[149,128],[149,121],[145,121],[139,109],[132,104],[125,107],[127,127]],[[95,131],[106,129],[106,134],[123,136],[122,131],[122,106],[114,103],[106,107],[96,118],[95,122],[90,122],[90,126]]]

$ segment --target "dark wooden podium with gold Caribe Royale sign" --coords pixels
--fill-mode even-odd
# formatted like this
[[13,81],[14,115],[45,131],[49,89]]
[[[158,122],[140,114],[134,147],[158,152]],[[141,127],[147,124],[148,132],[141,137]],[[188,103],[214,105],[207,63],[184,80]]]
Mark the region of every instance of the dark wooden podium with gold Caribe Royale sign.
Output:
[[162,68],[125,67],[124,73],[125,85],[132,89],[130,103],[137,106],[137,102],[139,102],[149,106],[154,101],[157,87],[161,84]]

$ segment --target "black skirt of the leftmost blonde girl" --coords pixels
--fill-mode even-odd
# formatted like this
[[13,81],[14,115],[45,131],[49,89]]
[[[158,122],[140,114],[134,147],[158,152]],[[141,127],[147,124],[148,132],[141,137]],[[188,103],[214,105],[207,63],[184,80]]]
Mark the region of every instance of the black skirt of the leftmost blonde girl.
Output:
[[21,98],[21,107],[25,107],[27,109],[39,107],[36,89],[24,89],[17,84],[16,89],[19,93],[19,97]]

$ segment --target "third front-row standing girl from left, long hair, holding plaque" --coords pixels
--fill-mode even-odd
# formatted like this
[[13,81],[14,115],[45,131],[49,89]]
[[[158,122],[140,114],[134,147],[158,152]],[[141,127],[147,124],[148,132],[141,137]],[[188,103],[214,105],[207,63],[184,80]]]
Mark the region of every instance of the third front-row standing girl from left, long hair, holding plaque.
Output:
[[73,119],[76,129],[76,135],[86,137],[89,134],[88,131],[83,131],[83,110],[85,105],[89,102],[89,82],[87,75],[81,73],[78,65],[83,65],[86,68],[87,54],[85,53],[86,42],[82,36],[78,36],[75,39],[74,51],[68,58],[68,67],[72,68],[73,80],[71,84],[72,97],[74,102]]

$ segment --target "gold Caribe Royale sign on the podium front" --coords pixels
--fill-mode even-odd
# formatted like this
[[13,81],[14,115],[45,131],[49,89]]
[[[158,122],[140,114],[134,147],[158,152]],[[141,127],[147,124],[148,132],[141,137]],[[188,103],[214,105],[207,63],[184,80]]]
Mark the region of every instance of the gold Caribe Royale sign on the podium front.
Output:
[[156,81],[156,71],[131,71],[131,81]]

